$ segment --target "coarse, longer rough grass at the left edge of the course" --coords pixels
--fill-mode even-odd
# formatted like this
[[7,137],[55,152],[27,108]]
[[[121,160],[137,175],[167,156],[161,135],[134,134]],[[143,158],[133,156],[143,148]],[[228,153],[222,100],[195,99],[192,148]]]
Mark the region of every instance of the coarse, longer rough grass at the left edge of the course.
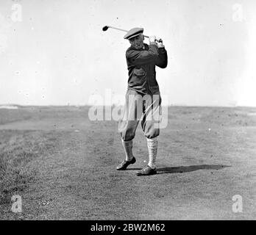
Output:
[[[38,156],[48,156],[57,147],[54,131],[0,131],[0,206],[21,194],[35,172],[26,165]],[[55,140],[55,141],[54,141]]]

